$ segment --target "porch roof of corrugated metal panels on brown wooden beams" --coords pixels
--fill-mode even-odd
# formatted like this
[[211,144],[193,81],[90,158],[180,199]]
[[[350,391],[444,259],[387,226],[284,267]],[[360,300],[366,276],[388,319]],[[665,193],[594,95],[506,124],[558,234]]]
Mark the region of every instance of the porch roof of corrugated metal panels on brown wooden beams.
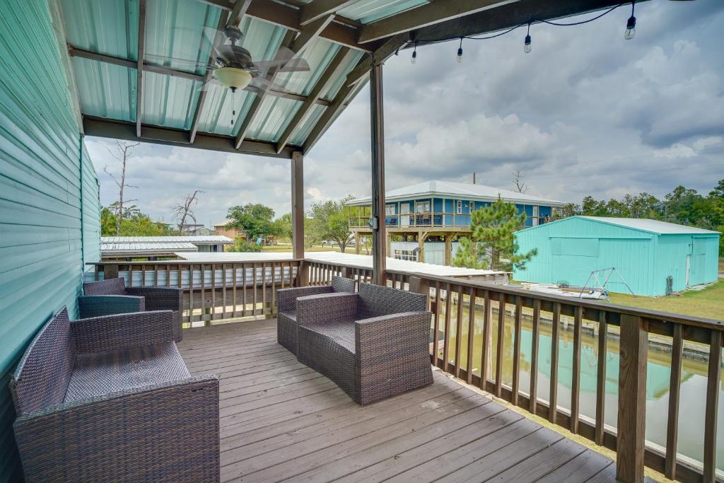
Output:
[[[291,158],[306,153],[384,62],[411,43],[492,32],[620,0],[59,0],[86,135]],[[205,28],[239,25],[255,61],[287,46],[287,92],[199,91]],[[140,55],[139,55],[140,52]],[[266,75],[273,76],[268,72]],[[231,119],[234,117],[234,123]]]

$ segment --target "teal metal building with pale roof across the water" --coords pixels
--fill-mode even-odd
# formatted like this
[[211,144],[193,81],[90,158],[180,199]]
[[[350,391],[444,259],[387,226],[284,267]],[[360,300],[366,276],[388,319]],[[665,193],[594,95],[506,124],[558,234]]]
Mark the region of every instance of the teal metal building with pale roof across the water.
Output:
[[[584,285],[592,271],[615,267],[636,295],[665,295],[716,282],[719,232],[652,219],[570,217],[515,233],[521,252],[538,254],[513,277]],[[618,277],[608,289],[626,292]]]

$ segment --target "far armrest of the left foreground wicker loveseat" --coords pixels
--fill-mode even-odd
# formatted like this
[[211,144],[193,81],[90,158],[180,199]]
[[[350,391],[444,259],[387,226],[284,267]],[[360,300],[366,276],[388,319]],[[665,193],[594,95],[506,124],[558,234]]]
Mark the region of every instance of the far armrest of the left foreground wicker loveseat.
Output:
[[135,312],[77,319],[70,329],[78,353],[104,352],[174,340],[172,311]]

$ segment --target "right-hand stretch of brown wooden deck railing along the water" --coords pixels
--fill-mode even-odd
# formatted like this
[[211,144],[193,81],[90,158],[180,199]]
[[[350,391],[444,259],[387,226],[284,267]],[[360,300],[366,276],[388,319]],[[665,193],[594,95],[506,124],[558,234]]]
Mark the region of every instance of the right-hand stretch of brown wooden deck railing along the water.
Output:
[[[344,266],[327,268],[343,273]],[[617,451],[617,475],[624,482],[643,481],[644,466],[683,482],[714,482],[717,451],[717,405],[722,366],[724,322],[693,316],[667,314],[640,308],[615,306],[559,295],[531,293],[503,285],[463,281],[451,277],[387,271],[388,286],[424,293],[432,310],[431,361],[442,371],[491,392],[515,406],[541,416]],[[457,303],[453,303],[457,299]],[[521,385],[521,331],[523,318],[531,324],[529,383]],[[507,319],[512,319],[506,326]],[[479,324],[479,319],[482,323]],[[512,326],[512,327],[511,327]],[[506,327],[512,330],[512,348],[505,347]],[[550,331],[550,383],[547,400],[539,397],[540,335]],[[596,337],[595,414],[581,416],[581,338]],[[468,337],[468,334],[473,337]],[[458,335],[460,335],[458,337]],[[495,335],[495,337],[493,337]],[[667,427],[663,448],[647,445],[646,372],[649,335],[659,344],[670,344],[671,375],[668,411],[660,424]],[[479,342],[477,342],[477,336]],[[605,424],[607,344],[618,340],[618,422]],[[560,344],[573,345],[570,404],[559,403],[558,369]],[[476,347],[476,344],[479,346]],[[703,345],[708,356],[705,395],[702,467],[677,458],[681,364],[684,345]],[[512,349],[512,374],[505,380],[503,358]],[[553,408],[553,409],[552,409]],[[686,417],[686,416],[682,416]]]

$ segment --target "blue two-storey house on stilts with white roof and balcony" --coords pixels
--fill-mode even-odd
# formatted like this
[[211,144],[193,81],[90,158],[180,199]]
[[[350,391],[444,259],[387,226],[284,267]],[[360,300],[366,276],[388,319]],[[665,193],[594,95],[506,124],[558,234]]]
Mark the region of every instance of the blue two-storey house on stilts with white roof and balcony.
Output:
[[[526,214],[526,227],[555,219],[555,209],[565,206],[563,201],[462,182],[426,181],[390,190],[385,193],[387,256],[451,265],[455,252],[452,240],[470,232],[473,211],[490,206],[499,196],[514,203],[519,213]],[[357,198],[345,204],[350,209],[350,230],[359,253],[359,238],[371,233],[371,198]],[[392,235],[405,241],[393,242]],[[417,246],[413,246],[415,243]]]

